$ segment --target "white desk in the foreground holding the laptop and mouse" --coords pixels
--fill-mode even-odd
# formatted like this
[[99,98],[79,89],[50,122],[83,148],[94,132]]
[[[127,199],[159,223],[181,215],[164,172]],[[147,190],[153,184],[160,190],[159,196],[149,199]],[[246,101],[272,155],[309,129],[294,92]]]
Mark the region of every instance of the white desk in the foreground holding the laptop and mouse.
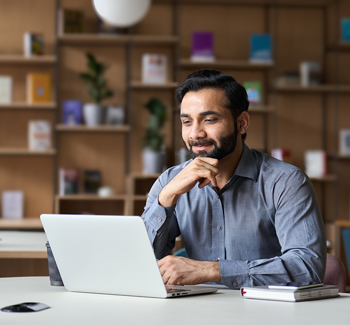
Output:
[[241,298],[237,290],[174,299],[67,292],[48,277],[0,279],[0,308],[38,302],[35,313],[0,312],[1,324],[50,325],[348,325],[350,294],[301,303]]

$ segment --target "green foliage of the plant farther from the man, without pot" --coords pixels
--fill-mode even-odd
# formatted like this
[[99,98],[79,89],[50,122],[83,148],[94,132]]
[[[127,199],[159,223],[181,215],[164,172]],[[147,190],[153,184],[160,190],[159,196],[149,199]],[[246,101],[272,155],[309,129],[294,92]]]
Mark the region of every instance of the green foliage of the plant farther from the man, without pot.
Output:
[[106,80],[103,76],[107,66],[97,62],[91,53],[86,53],[86,57],[88,72],[80,73],[79,76],[86,81],[91,99],[99,104],[104,98],[113,95],[113,92],[106,88]]

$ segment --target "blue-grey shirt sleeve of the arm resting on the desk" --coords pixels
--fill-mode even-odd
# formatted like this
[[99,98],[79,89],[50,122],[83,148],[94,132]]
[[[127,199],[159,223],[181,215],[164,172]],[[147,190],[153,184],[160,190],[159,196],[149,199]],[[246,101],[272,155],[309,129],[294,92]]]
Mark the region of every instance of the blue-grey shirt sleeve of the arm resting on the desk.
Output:
[[219,260],[223,285],[238,289],[323,281],[325,231],[311,181],[302,171],[295,171],[278,183],[273,189],[275,214],[271,220],[282,255],[256,261]]

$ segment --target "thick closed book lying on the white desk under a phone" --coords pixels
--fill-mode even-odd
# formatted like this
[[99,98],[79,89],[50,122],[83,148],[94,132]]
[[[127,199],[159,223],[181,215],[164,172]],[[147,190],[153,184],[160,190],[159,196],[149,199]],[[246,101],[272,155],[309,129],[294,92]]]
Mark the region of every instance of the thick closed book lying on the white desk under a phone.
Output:
[[243,298],[277,300],[285,302],[302,302],[307,300],[339,297],[339,287],[320,286],[309,289],[272,289],[269,286],[257,286],[240,288],[240,295]]

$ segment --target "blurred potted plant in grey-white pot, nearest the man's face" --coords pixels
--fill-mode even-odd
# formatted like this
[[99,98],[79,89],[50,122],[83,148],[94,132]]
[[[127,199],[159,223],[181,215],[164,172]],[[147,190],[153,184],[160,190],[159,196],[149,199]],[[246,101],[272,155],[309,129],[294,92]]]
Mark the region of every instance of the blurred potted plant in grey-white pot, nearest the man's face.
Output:
[[160,133],[165,117],[166,108],[159,99],[153,98],[145,107],[149,110],[148,128],[142,140],[143,174],[161,173],[165,163],[165,152],[162,146],[164,135]]

